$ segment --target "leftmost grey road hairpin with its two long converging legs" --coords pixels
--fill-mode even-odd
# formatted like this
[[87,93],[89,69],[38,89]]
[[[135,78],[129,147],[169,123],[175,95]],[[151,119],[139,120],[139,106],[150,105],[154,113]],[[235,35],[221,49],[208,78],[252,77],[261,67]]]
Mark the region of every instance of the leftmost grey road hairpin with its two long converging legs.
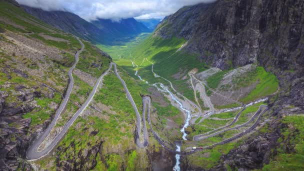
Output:
[[81,105],[81,107],[74,113],[74,115],[68,120],[68,122],[64,125],[63,129],[57,134],[57,136],[53,139],[53,141],[46,146],[43,150],[41,151],[37,151],[38,146],[42,143],[42,141],[45,139],[45,137],[48,135],[48,133],[50,132],[50,130],[53,128],[53,126],[55,125],[59,115],[64,111],[65,107],[66,107],[66,103],[69,99],[69,95],[71,93],[72,87],[73,87],[73,76],[72,76],[72,71],[75,68],[77,62],[78,62],[78,55],[80,54],[80,52],[83,50],[84,48],[84,44],[79,40],[79,38],[77,38],[78,41],[81,44],[81,49],[78,50],[75,54],[75,63],[72,65],[72,67],[69,69],[68,71],[68,76],[69,76],[69,84],[65,93],[65,97],[63,98],[60,106],[58,107],[58,109],[56,110],[56,114],[53,118],[53,120],[51,121],[51,123],[48,125],[48,127],[45,129],[45,131],[36,139],[34,139],[33,143],[28,147],[27,151],[26,151],[26,158],[28,160],[36,160],[39,159],[45,155],[47,155],[55,146],[56,144],[60,141],[60,139],[64,136],[64,134],[66,133],[66,131],[68,130],[68,128],[73,124],[73,122],[76,120],[76,118],[78,117],[79,114],[82,113],[82,111],[88,106],[89,102],[92,100],[99,84],[100,81],[102,79],[102,77],[107,74],[108,70],[111,68],[112,63],[110,63],[109,68],[103,73],[101,74],[101,76],[97,79],[91,93],[89,94],[88,98],[86,99],[86,101]]

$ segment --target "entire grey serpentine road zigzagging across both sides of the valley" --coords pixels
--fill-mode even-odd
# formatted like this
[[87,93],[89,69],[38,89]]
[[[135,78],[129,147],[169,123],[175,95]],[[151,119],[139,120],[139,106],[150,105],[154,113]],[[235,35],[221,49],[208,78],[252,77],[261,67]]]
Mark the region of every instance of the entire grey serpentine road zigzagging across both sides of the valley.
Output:
[[[150,120],[150,97],[148,96],[142,96],[142,119],[140,119],[140,114],[139,114],[139,111],[135,105],[135,102],[130,94],[130,92],[128,91],[127,89],[127,86],[124,82],[124,80],[119,76],[118,72],[117,72],[117,69],[116,69],[116,63],[114,62],[110,62],[109,63],[109,67],[108,69],[102,73],[100,75],[100,77],[96,80],[96,83],[92,89],[92,91],[90,92],[88,98],[86,99],[86,101],[81,105],[81,107],[73,114],[73,116],[67,121],[67,123],[63,126],[63,129],[55,136],[55,138],[52,140],[52,142],[46,146],[43,150],[41,151],[37,151],[37,148],[39,147],[39,145],[42,143],[42,141],[45,139],[45,137],[49,134],[50,130],[53,128],[53,126],[55,125],[58,117],[60,116],[61,113],[64,112],[65,110],[65,107],[66,107],[66,104],[67,104],[67,101],[69,100],[69,96],[70,96],[70,93],[72,91],[72,87],[73,87],[73,77],[72,77],[72,71],[73,69],[75,68],[77,62],[78,62],[78,56],[80,54],[80,52],[84,49],[84,44],[80,41],[80,39],[77,37],[78,41],[80,42],[81,44],[81,49],[78,50],[75,54],[75,62],[74,64],[70,67],[70,69],[68,70],[68,76],[69,76],[69,83],[68,83],[68,87],[67,87],[67,90],[66,90],[66,93],[65,93],[65,96],[62,100],[62,102],[60,103],[58,109],[56,110],[56,113],[55,113],[55,116],[53,118],[53,120],[51,121],[51,123],[48,125],[48,127],[45,129],[45,131],[40,135],[38,136],[34,141],[33,143],[28,147],[27,151],[26,151],[26,158],[28,160],[36,160],[36,159],[39,159],[45,155],[47,155],[57,144],[58,142],[62,139],[62,137],[65,135],[65,133],[67,132],[68,128],[73,124],[73,122],[76,120],[76,118],[78,117],[79,114],[81,114],[84,109],[89,105],[90,101],[92,100],[94,94],[96,93],[97,89],[98,89],[98,86],[101,82],[101,79],[103,78],[103,76],[105,74],[108,73],[108,71],[111,69],[112,65],[114,66],[114,72],[115,72],[115,75],[117,76],[117,78],[121,81],[123,87],[124,87],[124,90],[126,92],[126,96],[127,98],[129,99],[129,101],[131,102],[132,104],[132,107],[134,108],[134,111],[136,113],[136,131],[135,131],[135,143],[138,147],[140,148],[144,148],[148,145],[148,134],[147,134],[147,128],[146,128],[146,123],[145,123],[145,112],[147,111],[147,121],[148,121],[148,124],[150,125],[150,131],[152,132],[152,134],[154,135],[155,139],[158,141],[159,144],[161,144],[162,147],[164,147],[166,150],[169,150],[171,152],[174,152],[174,153],[177,153],[177,154],[183,154],[183,155],[188,155],[188,154],[191,154],[193,152],[196,152],[196,151],[200,151],[200,150],[203,150],[205,148],[210,148],[210,147],[213,147],[215,145],[218,145],[218,144],[224,144],[224,143],[227,143],[231,140],[234,140],[246,133],[248,133],[249,131],[253,130],[253,128],[257,125],[258,123],[258,120],[260,119],[261,115],[266,111],[268,110],[268,106],[266,105],[260,105],[259,109],[255,112],[255,114],[249,119],[249,121],[247,121],[246,123],[243,123],[241,125],[238,125],[238,126],[235,126],[233,128],[239,128],[239,127],[242,127],[242,126],[245,126],[247,123],[251,122],[254,120],[254,118],[258,115],[256,121],[253,123],[253,125],[251,125],[248,129],[244,130],[243,132],[237,134],[237,135],[234,135],[228,139],[225,139],[223,141],[220,141],[220,142],[217,142],[217,143],[214,143],[214,144],[211,144],[211,145],[208,145],[208,146],[204,146],[204,147],[198,147],[197,149],[195,150],[191,150],[191,151],[188,151],[188,152],[178,152],[178,151],[175,151],[174,149],[170,149],[169,147],[167,147],[163,140],[161,140],[159,138],[159,136],[157,135],[157,133],[153,130],[152,128],[152,125],[151,125],[151,120]],[[146,59],[147,60],[147,59]],[[152,63],[152,62],[151,62]],[[153,72],[153,63],[152,63],[152,72]],[[153,72],[154,73],[154,72]],[[156,73],[154,73],[155,76],[158,76],[158,77],[161,77],[159,75],[157,75]],[[193,75],[192,75],[193,76]],[[163,77],[162,77],[163,78]],[[193,76],[194,79],[196,79],[194,76]],[[163,78],[165,79],[165,78]],[[165,79],[167,80],[167,79]],[[197,80],[197,79],[196,79]],[[169,83],[170,83],[170,86],[171,88],[177,93],[179,94],[175,89],[174,87],[172,86],[172,83],[167,80]],[[179,94],[181,95],[181,94]],[[183,96],[183,95],[182,95]],[[190,101],[190,100],[188,100]],[[235,101],[235,100],[233,100]],[[238,102],[238,101],[237,101]],[[242,103],[241,103],[242,104]],[[199,108],[199,112],[201,113],[201,110],[200,110],[200,107],[197,107],[195,104],[192,103],[192,105],[194,105],[196,108]],[[245,105],[243,105],[243,109],[241,111],[243,111],[245,109]],[[146,107],[147,106],[147,107]],[[265,109],[263,111],[261,111],[261,107],[265,107]],[[216,131],[216,130],[219,130],[219,129],[223,129],[225,127],[228,127],[230,125],[232,125],[238,118],[238,116],[240,115],[241,111],[239,111],[235,117],[235,119],[228,125],[226,126],[223,126],[221,128],[218,128],[218,129],[214,129],[212,130],[212,132]],[[143,142],[140,141],[140,133],[141,133],[141,121],[143,123]],[[227,131],[227,130],[230,130],[232,128],[227,128],[227,129],[224,129],[224,130],[221,130],[221,131],[217,131],[215,133],[212,133],[207,137],[209,136],[213,136],[215,134],[218,134],[218,133],[221,133],[223,131]],[[197,138],[194,138],[193,139],[199,139],[201,138],[202,136],[204,136],[205,134],[200,134],[200,135],[196,135]],[[204,137],[203,137],[204,138]]]

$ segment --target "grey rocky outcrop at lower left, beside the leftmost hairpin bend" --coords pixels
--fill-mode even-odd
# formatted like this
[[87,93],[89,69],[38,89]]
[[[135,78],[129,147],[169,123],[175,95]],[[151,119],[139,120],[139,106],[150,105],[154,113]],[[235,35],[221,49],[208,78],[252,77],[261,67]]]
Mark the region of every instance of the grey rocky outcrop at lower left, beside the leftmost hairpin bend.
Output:
[[6,91],[0,91],[0,169],[31,170],[29,163],[18,161],[25,157],[30,140],[34,137],[28,132],[31,119],[22,115],[36,107],[34,97],[39,97],[40,93],[34,88],[15,85],[14,94],[16,99],[9,102]]

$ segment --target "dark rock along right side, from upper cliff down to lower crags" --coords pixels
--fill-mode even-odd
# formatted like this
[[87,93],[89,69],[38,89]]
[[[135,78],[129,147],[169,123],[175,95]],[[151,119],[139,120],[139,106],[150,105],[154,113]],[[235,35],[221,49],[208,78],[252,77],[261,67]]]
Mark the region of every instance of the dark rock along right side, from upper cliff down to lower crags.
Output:
[[[302,0],[217,0],[179,9],[162,20],[154,35],[188,40],[183,50],[220,69],[262,65],[279,79],[280,91],[269,105],[271,115],[281,118],[304,111],[303,9]],[[294,107],[284,109],[288,105]],[[239,169],[267,163],[284,126],[279,119],[269,125],[272,133],[251,137],[213,169],[224,169],[224,163]]]

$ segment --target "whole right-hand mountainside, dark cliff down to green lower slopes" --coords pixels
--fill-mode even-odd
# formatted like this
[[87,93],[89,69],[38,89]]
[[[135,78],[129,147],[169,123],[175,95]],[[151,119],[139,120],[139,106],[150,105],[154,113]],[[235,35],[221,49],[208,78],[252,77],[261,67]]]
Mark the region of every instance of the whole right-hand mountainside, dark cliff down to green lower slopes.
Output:
[[[247,136],[184,156],[180,161],[184,170],[303,169],[303,159],[299,159],[304,155],[300,147],[304,143],[303,9],[302,0],[217,0],[185,6],[121,55],[130,56],[121,60],[125,68],[132,64],[127,60],[139,63],[136,73],[142,79],[154,82],[157,73],[170,81],[167,86],[196,101],[205,112],[237,106],[224,96],[244,104],[267,99],[263,104],[269,110]],[[199,88],[202,82],[208,85],[204,86],[207,95],[198,93],[204,92]],[[213,106],[206,105],[210,103]],[[241,115],[250,117],[248,110]],[[232,116],[224,114],[219,120]],[[207,117],[195,118],[186,128],[187,138],[230,123]],[[220,133],[195,145],[209,145],[233,134]],[[193,141],[182,143],[194,145]]]

